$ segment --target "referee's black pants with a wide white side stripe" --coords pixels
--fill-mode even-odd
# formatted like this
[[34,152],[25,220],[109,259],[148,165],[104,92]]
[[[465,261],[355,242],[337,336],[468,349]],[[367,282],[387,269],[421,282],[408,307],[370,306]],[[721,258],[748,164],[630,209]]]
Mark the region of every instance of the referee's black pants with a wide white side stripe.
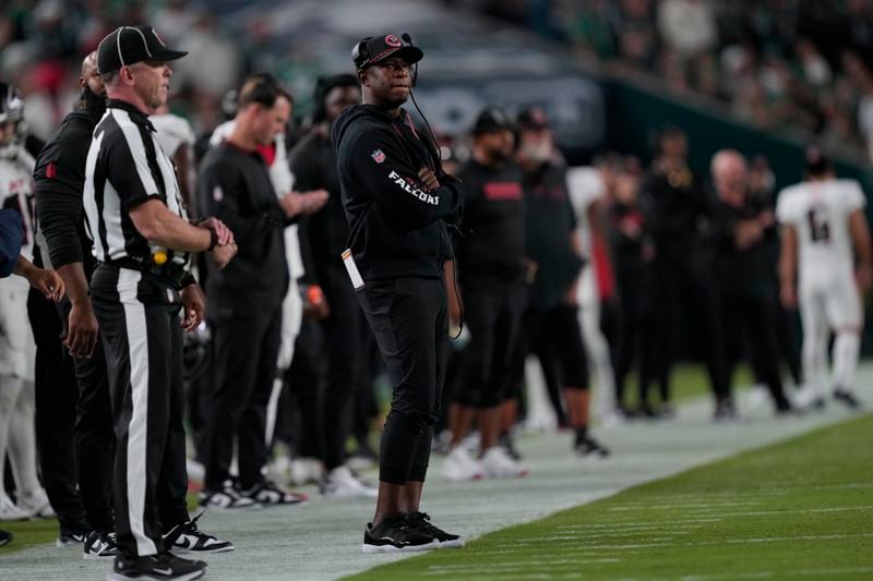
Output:
[[116,431],[116,532],[127,558],[163,550],[162,531],[188,521],[179,292],[129,268],[92,277]]

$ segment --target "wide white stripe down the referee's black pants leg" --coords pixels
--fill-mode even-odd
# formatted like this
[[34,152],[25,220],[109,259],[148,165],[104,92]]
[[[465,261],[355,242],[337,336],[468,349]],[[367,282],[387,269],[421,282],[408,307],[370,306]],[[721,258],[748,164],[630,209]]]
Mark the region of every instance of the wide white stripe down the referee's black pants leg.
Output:
[[136,299],[142,273],[118,269],[118,296],[124,306],[130,360],[131,415],[128,425],[128,519],[140,557],[156,555],[157,547],[145,535],[145,455],[148,429],[148,332],[145,306]]

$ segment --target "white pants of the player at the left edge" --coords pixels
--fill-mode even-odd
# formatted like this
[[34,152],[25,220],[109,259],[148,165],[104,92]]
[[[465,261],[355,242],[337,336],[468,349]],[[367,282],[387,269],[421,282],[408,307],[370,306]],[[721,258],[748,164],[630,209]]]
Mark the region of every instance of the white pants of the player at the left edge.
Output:
[[0,285],[0,467],[8,452],[20,493],[40,488],[34,424],[36,346],[27,320],[27,282],[19,277]]

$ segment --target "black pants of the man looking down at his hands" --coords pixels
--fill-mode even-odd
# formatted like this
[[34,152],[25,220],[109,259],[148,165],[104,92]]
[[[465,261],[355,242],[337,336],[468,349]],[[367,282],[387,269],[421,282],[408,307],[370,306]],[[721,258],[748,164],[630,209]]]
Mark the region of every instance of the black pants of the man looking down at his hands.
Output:
[[[214,312],[232,312],[214,306]],[[214,386],[206,417],[205,488],[220,491],[230,479],[237,439],[239,485],[263,482],[266,463],[266,406],[276,377],[282,334],[282,303],[260,313],[211,319]]]

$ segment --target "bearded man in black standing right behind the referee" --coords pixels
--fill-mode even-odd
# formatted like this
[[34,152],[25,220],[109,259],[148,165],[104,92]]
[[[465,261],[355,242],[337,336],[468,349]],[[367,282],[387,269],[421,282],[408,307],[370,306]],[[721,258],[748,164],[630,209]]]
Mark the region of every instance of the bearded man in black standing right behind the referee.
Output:
[[[82,209],[85,158],[94,126],[106,110],[96,51],[82,61],[80,86],[75,110],[49,138],[34,169],[43,246],[67,286],[60,311],[67,323],[64,343],[72,354],[72,360],[63,358],[51,365],[48,389],[37,389],[37,437],[43,479],[58,513],[59,544],[84,541],[85,555],[113,556],[116,543],[109,533],[116,438],[105,356],[88,299],[96,264]],[[49,317],[45,316],[46,323]],[[51,326],[61,327],[60,319]],[[47,340],[57,341],[58,335],[60,329]],[[74,370],[67,372],[67,365]],[[61,377],[65,373],[71,380]],[[64,389],[67,383],[72,385]]]

